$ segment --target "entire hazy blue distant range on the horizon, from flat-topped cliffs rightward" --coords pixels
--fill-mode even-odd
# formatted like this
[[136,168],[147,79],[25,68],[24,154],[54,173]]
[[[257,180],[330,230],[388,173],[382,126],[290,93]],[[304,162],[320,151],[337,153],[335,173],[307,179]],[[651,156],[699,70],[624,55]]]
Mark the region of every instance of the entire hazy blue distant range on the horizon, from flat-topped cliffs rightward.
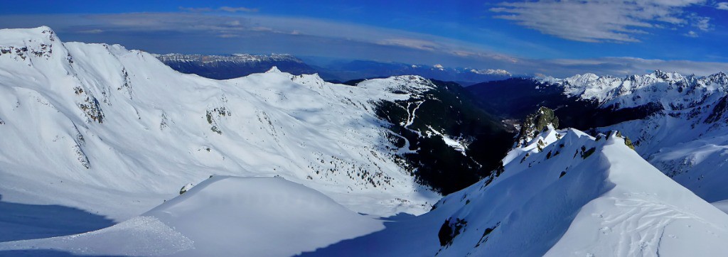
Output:
[[507,70],[446,68],[443,65],[414,65],[398,62],[351,60],[326,65],[309,65],[290,54],[154,54],[159,60],[181,73],[193,73],[205,78],[230,79],[262,73],[272,67],[293,75],[318,73],[325,81],[344,82],[360,78],[387,78],[416,75],[439,81],[454,81],[470,86],[486,81],[512,78]]

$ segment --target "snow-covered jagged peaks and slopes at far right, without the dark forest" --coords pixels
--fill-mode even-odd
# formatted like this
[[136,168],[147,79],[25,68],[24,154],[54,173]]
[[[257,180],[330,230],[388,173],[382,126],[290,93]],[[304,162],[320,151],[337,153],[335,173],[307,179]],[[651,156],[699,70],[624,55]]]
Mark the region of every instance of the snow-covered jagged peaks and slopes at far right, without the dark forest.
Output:
[[656,71],[626,78],[585,74],[542,78],[565,94],[604,110],[637,110],[646,117],[614,124],[646,160],[708,201],[728,199],[728,76]]

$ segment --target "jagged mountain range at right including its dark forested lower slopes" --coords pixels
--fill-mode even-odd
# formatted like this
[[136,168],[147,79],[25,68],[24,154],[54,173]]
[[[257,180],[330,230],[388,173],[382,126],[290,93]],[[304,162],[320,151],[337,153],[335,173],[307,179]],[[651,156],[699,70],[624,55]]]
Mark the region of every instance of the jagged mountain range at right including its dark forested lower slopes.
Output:
[[[470,87],[494,113],[518,118],[538,106],[555,109],[564,126],[620,130],[660,171],[710,202],[728,199],[728,76],[683,76],[660,70],[616,78],[515,79]],[[518,91],[514,96],[507,92]],[[515,101],[521,110],[499,107]]]

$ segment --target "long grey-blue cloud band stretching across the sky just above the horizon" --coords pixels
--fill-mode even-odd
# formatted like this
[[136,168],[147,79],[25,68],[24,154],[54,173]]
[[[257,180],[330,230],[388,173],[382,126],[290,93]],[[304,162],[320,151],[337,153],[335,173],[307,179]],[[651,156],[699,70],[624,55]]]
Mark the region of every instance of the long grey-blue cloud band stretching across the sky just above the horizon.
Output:
[[[649,70],[708,75],[728,63],[632,57],[539,60],[492,52],[451,38],[329,20],[200,12],[113,15],[0,16],[6,28],[51,25],[64,41],[122,44],[169,53],[270,53],[379,60],[449,67],[499,68],[515,74],[566,77],[577,73],[625,76]],[[691,30],[697,36],[701,30]],[[689,36],[689,34],[687,34]]]

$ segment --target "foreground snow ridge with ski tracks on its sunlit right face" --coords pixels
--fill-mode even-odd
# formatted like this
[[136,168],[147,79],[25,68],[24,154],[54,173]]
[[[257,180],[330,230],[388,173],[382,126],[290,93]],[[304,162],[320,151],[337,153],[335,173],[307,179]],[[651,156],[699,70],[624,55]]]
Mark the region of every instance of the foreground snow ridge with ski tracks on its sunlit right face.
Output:
[[430,213],[309,255],[716,256],[728,251],[723,243],[728,215],[649,165],[616,132],[595,139],[573,129],[549,129],[503,162],[500,176],[443,197]]

